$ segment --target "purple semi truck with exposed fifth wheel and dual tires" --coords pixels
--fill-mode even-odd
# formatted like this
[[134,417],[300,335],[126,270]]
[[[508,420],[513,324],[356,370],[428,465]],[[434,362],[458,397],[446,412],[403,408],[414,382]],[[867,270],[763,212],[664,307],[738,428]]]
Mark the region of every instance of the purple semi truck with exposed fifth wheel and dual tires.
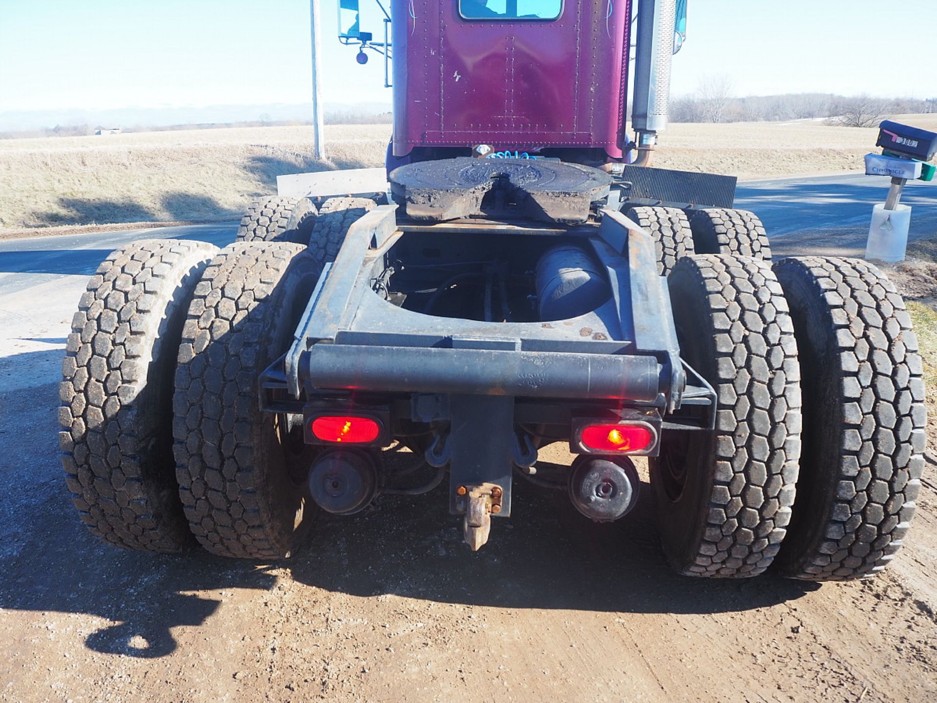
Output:
[[909,316],[870,262],[772,261],[734,178],[652,165],[686,3],[391,0],[380,42],[339,6],[387,61],[386,168],[101,263],[59,408],[88,528],[270,561],[425,494],[473,551],[522,481],[596,521],[653,501],[686,576],[884,569],[923,468]]

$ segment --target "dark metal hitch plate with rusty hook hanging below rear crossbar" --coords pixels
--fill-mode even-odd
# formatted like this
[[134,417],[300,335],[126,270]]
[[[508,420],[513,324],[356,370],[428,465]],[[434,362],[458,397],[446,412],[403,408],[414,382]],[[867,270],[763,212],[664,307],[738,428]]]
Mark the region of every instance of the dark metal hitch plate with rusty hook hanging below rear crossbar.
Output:
[[511,476],[517,440],[513,396],[452,396],[449,510],[465,516],[466,542],[488,540],[491,516],[511,515]]

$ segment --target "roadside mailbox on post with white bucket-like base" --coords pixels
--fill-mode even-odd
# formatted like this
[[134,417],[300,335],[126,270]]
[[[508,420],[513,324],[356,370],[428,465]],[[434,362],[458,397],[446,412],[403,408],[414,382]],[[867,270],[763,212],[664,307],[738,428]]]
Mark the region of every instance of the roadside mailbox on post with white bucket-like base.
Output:
[[872,208],[866,259],[900,262],[911,227],[911,206],[901,204],[901,191],[909,180],[933,179],[935,168],[927,162],[937,153],[937,134],[885,120],[875,145],[882,153],[866,155],[866,174],[890,176],[891,187],[885,202]]

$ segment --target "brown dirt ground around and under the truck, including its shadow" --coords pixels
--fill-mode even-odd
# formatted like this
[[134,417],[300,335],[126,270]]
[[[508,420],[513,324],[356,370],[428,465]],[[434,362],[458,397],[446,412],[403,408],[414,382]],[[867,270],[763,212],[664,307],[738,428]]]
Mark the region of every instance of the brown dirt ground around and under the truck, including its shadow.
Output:
[[[55,441],[57,369],[84,278],[23,278],[0,299],[0,700],[937,700],[937,316],[925,263],[902,268],[920,290],[901,284],[930,329],[915,525],[884,575],[822,586],[675,576],[647,484],[631,515],[595,525],[519,482],[513,516],[477,554],[442,494],[323,518],[282,563],[105,546],[74,514]],[[543,458],[569,460],[556,446]]]

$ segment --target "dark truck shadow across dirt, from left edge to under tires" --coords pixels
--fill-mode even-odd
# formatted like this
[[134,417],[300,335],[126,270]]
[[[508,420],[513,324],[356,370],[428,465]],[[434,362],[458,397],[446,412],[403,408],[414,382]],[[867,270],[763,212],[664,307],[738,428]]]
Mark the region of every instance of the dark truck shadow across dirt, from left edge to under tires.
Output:
[[[7,357],[7,370],[28,373],[40,361],[32,356]],[[0,607],[32,611],[40,621],[56,612],[104,619],[92,621],[97,629],[84,640],[102,653],[169,655],[179,646],[173,628],[210,628],[222,606],[237,619],[232,600],[257,610],[275,600],[281,578],[363,597],[633,613],[744,611],[815,588],[774,576],[675,575],[657,545],[649,486],[631,515],[595,525],[558,491],[519,483],[513,517],[496,521],[478,553],[462,543],[445,488],[423,498],[387,496],[359,516],[322,517],[312,542],[275,564],[216,558],[197,547],[182,555],[123,551],[85,531],[70,504],[56,459],[57,405],[56,383],[0,391]],[[88,626],[81,621],[77,629]]]

